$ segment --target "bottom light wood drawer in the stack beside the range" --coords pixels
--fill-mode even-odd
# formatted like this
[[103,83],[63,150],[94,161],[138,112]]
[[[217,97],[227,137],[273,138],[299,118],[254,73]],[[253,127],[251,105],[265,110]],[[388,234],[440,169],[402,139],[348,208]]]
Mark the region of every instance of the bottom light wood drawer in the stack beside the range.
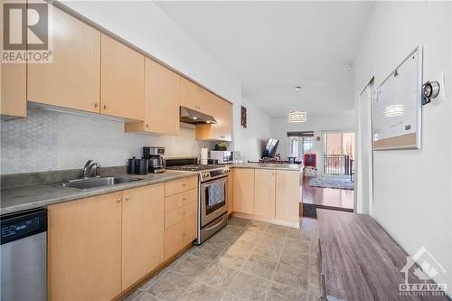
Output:
[[165,230],[165,259],[183,249],[196,238],[196,215]]

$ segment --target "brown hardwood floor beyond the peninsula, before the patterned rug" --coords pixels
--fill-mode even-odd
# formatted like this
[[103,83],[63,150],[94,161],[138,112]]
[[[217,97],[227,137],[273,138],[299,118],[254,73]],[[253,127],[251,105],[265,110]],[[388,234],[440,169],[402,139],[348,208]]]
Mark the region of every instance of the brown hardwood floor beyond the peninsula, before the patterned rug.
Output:
[[303,179],[303,215],[315,217],[315,209],[353,212],[353,190],[309,186],[309,177]]

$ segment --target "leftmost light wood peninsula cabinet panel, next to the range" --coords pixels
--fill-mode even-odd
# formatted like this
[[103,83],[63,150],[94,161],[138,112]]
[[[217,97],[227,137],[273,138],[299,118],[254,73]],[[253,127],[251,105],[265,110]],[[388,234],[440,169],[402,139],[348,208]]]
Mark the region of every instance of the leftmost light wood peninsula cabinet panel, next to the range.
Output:
[[234,212],[254,214],[254,169],[234,168]]

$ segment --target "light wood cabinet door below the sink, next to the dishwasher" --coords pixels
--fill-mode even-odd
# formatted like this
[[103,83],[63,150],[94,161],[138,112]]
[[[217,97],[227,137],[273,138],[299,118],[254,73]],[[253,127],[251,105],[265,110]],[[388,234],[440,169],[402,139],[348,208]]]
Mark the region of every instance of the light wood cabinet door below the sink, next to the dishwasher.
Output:
[[48,207],[49,300],[111,300],[121,292],[120,197]]

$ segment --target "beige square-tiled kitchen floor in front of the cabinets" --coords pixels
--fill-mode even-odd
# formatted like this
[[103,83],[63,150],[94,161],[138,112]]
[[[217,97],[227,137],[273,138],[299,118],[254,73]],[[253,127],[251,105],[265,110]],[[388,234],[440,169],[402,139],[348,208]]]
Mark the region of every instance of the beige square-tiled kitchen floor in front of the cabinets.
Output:
[[316,221],[301,230],[231,218],[125,301],[318,300]]

